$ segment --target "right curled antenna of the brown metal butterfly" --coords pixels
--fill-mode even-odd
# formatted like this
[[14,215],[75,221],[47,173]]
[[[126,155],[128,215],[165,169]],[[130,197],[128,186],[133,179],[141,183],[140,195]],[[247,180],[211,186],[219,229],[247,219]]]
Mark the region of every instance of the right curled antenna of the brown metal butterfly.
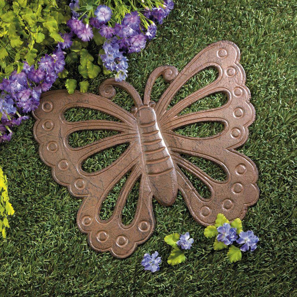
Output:
[[151,99],[151,90],[153,85],[156,82],[157,78],[163,75],[163,78],[166,82],[171,83],[178,75],[178,70],[174,66],[164,65],[156,68],[146,83],[146,88],[144,90],[143,104],[149,104]]

